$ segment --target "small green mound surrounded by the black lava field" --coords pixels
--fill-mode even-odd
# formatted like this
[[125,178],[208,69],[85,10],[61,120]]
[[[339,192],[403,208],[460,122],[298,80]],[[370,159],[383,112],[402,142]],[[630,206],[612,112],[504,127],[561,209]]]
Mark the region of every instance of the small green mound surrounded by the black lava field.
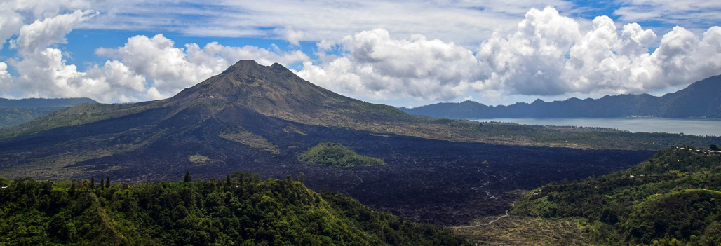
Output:
[[367,167],[386,164],[382,159],[366,157],[355,153],[345,146],[331,142],[322,142],[302,154],[298,154],[298,160],[329,167]]

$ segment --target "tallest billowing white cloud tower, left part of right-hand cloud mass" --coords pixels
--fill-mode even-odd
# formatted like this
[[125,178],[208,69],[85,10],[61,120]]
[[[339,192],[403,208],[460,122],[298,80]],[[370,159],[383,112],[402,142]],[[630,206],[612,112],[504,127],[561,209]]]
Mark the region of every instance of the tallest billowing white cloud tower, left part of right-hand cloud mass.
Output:
[[562,94],[568,90],[559,81],[566,54],[580,38],[575,20],[551,7],[531,9],[508,38],[496,31],[482,43],[477,58],[491,69],[491,79],[476,88],[522,95]]

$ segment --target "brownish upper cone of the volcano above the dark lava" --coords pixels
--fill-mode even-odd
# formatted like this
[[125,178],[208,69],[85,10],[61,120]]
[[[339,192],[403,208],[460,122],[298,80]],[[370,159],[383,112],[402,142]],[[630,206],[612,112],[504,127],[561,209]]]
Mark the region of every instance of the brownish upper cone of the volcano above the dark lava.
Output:
[[262,115],[320,126],[354,126],[368,120],[398,120],[405,113],[338,95],[301,79],[284,66],[238,61],[226,71],[182,90],[169,102],[242,105]]

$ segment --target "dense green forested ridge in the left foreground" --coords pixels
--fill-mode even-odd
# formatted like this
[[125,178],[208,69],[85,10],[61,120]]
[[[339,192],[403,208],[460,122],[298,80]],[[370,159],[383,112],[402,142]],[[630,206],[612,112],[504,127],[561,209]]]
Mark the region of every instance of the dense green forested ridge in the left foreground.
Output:
[[440,227],[315,193],[291,177],[236,172],[223,180],[185,180],[0,180],[0,245],[466,244]]

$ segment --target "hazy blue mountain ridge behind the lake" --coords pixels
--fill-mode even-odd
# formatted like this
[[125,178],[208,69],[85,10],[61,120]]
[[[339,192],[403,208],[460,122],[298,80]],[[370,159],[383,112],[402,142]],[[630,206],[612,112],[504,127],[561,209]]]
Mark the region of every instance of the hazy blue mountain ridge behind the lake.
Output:
[[721,75],[712,76],[678,92],[653,95],[615,95],[599,99],[571,97],[564,101],[536,100],[513,105],[487,106],[479,102],[441,102],[400,107],[412,115],[433,118],[721,118]]

